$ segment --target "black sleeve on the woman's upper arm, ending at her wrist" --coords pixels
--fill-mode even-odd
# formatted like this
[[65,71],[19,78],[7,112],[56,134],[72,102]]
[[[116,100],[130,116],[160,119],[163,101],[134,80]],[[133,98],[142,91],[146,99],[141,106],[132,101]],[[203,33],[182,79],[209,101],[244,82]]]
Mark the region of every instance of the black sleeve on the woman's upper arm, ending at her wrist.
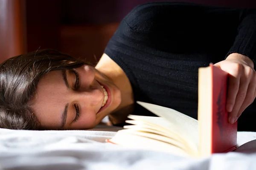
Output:
[[112,46],[113,39],[125,41],[133,49],[206,53],[218,56],[218,60],[239,53],[255,59],[256,10],[194,3],[146,3],[122,20]]

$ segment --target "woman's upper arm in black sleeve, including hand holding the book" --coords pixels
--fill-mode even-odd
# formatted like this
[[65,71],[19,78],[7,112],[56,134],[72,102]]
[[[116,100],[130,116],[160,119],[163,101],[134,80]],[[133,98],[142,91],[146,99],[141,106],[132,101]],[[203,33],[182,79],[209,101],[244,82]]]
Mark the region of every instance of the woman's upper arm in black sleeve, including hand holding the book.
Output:
[[236,122],[255,99],[256,10],[148,3],[135,8],[125,22],[135,40],[147,46],[169,52],[215,54],[215,61],[226,56],[215,65],[230,74],[230,123]]

